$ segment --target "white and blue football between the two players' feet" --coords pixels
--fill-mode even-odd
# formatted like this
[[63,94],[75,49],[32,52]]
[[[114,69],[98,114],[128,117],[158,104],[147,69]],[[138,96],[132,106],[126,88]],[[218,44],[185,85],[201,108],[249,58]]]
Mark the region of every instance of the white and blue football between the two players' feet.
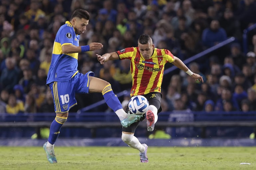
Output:
[[142,95],[132,96],[128,103],[128,108],[130,113],[136,115],[145,114],[148,110],[148,100]]

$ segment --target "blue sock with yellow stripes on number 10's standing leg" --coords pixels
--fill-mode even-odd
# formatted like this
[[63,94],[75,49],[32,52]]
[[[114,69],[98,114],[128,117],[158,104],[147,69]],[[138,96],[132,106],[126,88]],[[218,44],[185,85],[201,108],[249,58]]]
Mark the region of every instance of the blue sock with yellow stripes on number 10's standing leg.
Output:
[[50,134],[48,141],[51,144],[54,144],[60,134],[60,130],[62,125],[66,122],[67,117],[60,117],[56,116],[55,119],[53,120],[51,126],[50,126]]

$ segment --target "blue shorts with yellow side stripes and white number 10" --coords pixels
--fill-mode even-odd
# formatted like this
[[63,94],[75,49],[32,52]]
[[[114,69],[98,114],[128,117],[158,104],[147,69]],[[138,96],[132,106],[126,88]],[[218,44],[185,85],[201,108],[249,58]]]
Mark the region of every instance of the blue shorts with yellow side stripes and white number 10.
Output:
[[94,73],[89,71],[84,75],[78,72],[66,82],[49,84],[56,113],[66,113],[77,104],[75,93],[89,93],[89,76],[94,76]]

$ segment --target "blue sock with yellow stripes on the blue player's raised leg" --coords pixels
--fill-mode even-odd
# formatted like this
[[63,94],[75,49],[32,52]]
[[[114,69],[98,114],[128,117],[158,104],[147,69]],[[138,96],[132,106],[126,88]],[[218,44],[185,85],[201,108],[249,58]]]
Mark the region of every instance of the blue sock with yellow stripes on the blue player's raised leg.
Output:
[[106,85],[104,89],[102,90],[102,95],[107,103],[107,105],[115,111],[118,109],[122,109],[122,104],[120,103],[119,99],[117,96],[114,94],[111,85]]

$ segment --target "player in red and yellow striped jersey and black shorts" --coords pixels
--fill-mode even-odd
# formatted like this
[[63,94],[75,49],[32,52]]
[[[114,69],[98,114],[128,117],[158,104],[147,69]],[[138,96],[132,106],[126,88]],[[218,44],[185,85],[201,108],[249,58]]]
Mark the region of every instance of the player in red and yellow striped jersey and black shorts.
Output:
[[[143,95],[149,101],[149,108],[146,112],[147,129],[153,131],[157,122],[157,114],[161,112],[161,85],[163,81],[164,67],[166,63],[172,63],[179,69],[185,71],[195,80],[203,82],[202,76],[193,73],[178,57],[174,56],[167,49],[155,48],[151,37],[147,34],[140,35],[138,39],[138,47],[128,47],[120,51],[97,55],[100,64],[104,64],[108,60],[128,59],[131,60],[130,71],[132,74],[132,88],[130,95]],[[126,111],[129,109],[127,107]],[[129,127],[123,127],[122,140],[132,148],[140,151],[141,162],[148,162],[147,148],[148,146],[134,136],[134,132],[143,119],[131,124]]]

